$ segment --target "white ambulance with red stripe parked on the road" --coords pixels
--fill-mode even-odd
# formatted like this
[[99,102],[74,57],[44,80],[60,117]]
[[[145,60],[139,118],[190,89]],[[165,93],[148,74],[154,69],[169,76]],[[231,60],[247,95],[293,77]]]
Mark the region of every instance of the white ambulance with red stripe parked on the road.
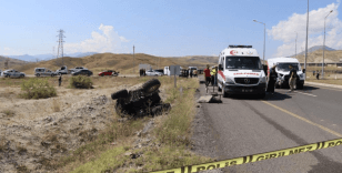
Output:
[[266,75],[252,45],[229,45],[220,53],[218,85],[223,96],[231,94],[265,96]]

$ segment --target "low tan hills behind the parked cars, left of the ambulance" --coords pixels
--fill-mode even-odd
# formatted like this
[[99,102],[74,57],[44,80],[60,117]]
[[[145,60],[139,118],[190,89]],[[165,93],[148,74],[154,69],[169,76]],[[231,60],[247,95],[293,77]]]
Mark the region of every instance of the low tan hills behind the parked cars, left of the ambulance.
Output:
[[[218,59],[218,58],[215,58]],[[86,67],[92,70],[94,73],[105,69],[112,69],[120,71],[121,73],[132,73],[133,68],[135,73],[138,73],[138,68],[140,63],[148,63],[152,65],[152,69],[163,69],[167,65],[179,64],[183,68],[193,65],[204,69],[205,64],[210,65],[217,64],[218,60],[211,57],[182,57],[182,58],[162,58],[154,57],[143,53],[133,54],[113,54],[113,53],[98,53],[92,55],[87,55],[83,58],[70,58],[64,57],[63,62],[70,69],[74,67]],[[27,74],[33,74],[34,68],[48,68],[51,70],[57,70],[61,65],[61,59],[53,59],[48,61],[32,62],[24,65],[16,67],[17,70],[26,72]]]

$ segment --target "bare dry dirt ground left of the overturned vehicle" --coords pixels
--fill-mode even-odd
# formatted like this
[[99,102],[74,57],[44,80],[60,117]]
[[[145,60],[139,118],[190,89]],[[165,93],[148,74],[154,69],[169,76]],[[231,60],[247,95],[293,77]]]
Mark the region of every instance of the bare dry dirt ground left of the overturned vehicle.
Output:
[[[140,85],[61,86],[58,96],[40,100],[18,98],[20,86],[0,88],[0,172],[49,170],[47,161],[74,151],[113,122],[111,93]],[[160,91],[164,99],[163,89]]]

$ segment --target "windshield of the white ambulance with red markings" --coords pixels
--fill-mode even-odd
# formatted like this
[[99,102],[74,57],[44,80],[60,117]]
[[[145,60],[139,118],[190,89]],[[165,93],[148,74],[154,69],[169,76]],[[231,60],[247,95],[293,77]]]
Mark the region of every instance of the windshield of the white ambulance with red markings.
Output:
[[259,57],[225,57],[227,69],[252,69],[261,70]]

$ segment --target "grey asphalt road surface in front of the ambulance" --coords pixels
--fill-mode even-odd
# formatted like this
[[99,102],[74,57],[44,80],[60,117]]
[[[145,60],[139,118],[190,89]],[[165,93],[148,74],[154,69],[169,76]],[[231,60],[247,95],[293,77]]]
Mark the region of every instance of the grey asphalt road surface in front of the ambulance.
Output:
[[[203,80],[203,79],[201,79]],[[223,98],[201,103],[219,160],[271,152],[342,138],[342,90],[305,85],[286,93],[276,89],[262,100]],[[205,95],[204,84],[200,85]],[[342,145],[254,163],[225,167],[223,172],[335,173],[342,172]]]

